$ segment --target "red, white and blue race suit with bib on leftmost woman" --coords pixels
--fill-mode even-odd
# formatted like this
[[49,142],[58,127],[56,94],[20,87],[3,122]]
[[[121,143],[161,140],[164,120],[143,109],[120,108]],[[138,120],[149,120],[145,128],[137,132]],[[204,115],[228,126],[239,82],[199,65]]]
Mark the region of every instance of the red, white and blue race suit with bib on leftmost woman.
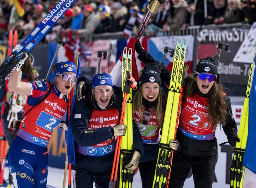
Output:
[[[29,82],[32,86],[24,114],[48,91],[50,83]],[[23,117],[20,130],[11,144],[8,154],[9,170],[18,188],[45,188],[48,173],[47,145],[53,129],[66,113],[68,102],[53,84],[42,103]]]

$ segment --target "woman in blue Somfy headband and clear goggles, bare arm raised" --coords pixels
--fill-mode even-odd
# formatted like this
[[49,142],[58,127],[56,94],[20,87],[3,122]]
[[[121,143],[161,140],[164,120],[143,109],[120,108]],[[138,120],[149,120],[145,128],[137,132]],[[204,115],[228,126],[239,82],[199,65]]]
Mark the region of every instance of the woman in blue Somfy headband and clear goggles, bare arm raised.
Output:
[[77,80],[73,62],[60,62],[53,66],[53,72],[56,75],[53,84],[43,81],[22,82],[21,71],[15,70],[10,75],[8,88],[18,94],[28,95],[19,130],[8,154],[9,170],[17,188],[46,187],[47,145],[53,129],[66,113],[66,95]]

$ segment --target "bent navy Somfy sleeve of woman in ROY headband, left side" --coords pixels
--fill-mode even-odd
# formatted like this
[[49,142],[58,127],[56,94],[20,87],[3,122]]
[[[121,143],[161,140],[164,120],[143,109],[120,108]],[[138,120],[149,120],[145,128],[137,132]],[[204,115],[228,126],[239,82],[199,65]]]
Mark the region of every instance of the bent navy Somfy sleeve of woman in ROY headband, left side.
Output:
[[90,114],[83,100],[76,103],[71,119],[71,129],[76,142],[81,146],[91,146],[112,139],[111,127],[88,128]]

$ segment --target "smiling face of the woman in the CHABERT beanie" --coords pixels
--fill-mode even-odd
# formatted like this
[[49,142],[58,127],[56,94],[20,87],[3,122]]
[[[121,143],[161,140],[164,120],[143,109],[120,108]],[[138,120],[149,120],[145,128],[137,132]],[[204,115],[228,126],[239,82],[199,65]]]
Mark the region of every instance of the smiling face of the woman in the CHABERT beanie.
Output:
[[156,82],[146,82],[142,84],[142,96],[150,102],[158,98],[159,91],[159,84]]

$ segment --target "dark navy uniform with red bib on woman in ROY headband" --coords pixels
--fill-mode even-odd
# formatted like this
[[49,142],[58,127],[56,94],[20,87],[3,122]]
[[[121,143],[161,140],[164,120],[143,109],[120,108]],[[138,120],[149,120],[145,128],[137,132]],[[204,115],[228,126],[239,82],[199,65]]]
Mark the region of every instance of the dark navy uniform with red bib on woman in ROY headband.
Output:
[[[89,82],[87,82],[89,83]],[[76,188],[108,187],[114,159],[116,141],[112,127],[119,124],[122,90],[114,86],[115,99],[111,98],[105,109],[92,103],[91,88],[76,103],[72,115],[72,132],[76,141]],[[143,153],[142,140],[137,126],[133,126],[133,149]]]

